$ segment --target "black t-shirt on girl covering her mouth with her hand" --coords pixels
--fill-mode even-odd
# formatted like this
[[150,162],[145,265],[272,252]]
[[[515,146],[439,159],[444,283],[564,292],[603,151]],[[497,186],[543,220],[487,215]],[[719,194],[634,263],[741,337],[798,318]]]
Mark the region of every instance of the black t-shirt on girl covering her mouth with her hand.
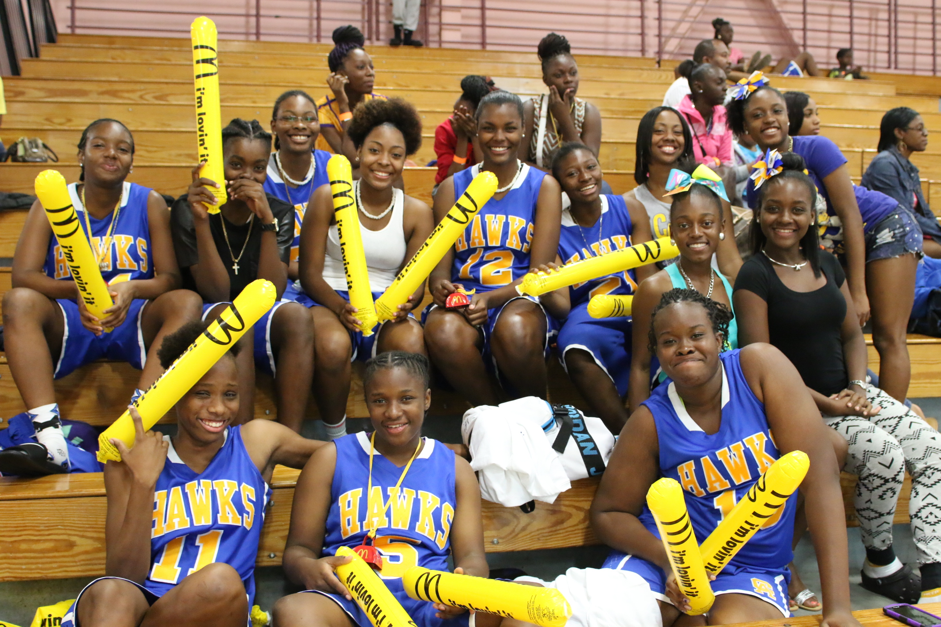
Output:
[[[291,243],[294,242],[295,212],[294,207],[270,194],[268,206],[272,214],[278,219],[278,252],[281,261],[285,263],[291,257]],[[245,287],[258,278],[258,259],[262,252],[262,223],[253,219],[245,225],[233,225],[226,220],[226,232],[222,232],[222,213],[209,214],[209,227],[213,232],[215,249],[219,251],[219,259],[229,271],[229,298],[238,296]],[[186,202],[186,195],[180,196],[170,208],[170,232],[173,235],[173,248],[176,251],[177,263],[183,274],[183,288],[196,289],[196,281],[189,268],[199,263],[199,252],[196,244],[196,227],[193,226],[193,211]],[[226,244],[226,234],[229,243]],[[248,242],[246,243],[246,237]],[[245,252],[239,258],[242,247]],[[231,252],[230,252],[231,248]],[[232,267],[234,258],[238,260],[238,274]]]

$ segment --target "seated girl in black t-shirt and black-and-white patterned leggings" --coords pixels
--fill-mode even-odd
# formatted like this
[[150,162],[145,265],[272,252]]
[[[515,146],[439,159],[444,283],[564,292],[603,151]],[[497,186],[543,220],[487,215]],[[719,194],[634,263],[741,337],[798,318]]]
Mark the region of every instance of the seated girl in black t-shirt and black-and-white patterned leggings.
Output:
[[[785,154],[781,168],[758,189],[752,257],[735,282],[739,343],[771,343],[787,355],[823,422],[849,443],[845,469],[859,476],[854,501],[867,554],[863,588],[899,603],[925,603],[941,597],[941,519],[935,515],[941,436],[866,383],[866,345],[846,275],[820,247],[817,187],[799,154]],[[906,469],[920,580],[892,548]],[[824,597],[829,605],[825,589]]]

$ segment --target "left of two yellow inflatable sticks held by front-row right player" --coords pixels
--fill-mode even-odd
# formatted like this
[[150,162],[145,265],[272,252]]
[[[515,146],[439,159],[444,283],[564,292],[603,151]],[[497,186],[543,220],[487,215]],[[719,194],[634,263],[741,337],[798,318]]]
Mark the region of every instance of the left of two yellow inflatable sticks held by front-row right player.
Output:
[[686,510],[679,482],[668,477],[654,481],[647,490],[647,507],[660,529],[660,538],[670,558],[673,576],[677,578],[683,596],[689,599],[692,608],[690,615],[705,614],[715,601],[715,596],[709,584],[709,575],[703,567],[693,521]]

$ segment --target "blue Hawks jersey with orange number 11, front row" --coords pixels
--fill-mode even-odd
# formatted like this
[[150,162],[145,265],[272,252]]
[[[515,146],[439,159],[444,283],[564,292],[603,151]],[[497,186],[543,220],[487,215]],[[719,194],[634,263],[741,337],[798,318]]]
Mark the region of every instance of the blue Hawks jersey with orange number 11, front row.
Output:
[[229,564],[255,598],[255,558],[271,488],[242,441],[240,427],[199,475],[172,445],[153,493],[151,571],[144,587],[163,596],[183,577],[212,563]]

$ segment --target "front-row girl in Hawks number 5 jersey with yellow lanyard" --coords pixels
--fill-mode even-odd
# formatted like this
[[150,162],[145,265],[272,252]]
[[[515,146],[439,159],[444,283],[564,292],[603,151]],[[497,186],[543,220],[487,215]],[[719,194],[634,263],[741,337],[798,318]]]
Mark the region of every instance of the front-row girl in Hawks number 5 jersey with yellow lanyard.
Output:
[[[431,405],[428,360],[391,351],[369,361],[363,391],[373,433],[353,433],[311,456],[297,480],[284,550],[288,577],[307,588],[273,609],[276,627],[369,627],[337,578],[341,546],[375,546],[383,583],[419,627],[467,625],[464,610],[415,601],[402,586],[412,566],[486,577],[480,487],[470,463],[422,437]],[[325,480],[328,478],[328,480]],[[496,618],[496,617],[494,617]]]

